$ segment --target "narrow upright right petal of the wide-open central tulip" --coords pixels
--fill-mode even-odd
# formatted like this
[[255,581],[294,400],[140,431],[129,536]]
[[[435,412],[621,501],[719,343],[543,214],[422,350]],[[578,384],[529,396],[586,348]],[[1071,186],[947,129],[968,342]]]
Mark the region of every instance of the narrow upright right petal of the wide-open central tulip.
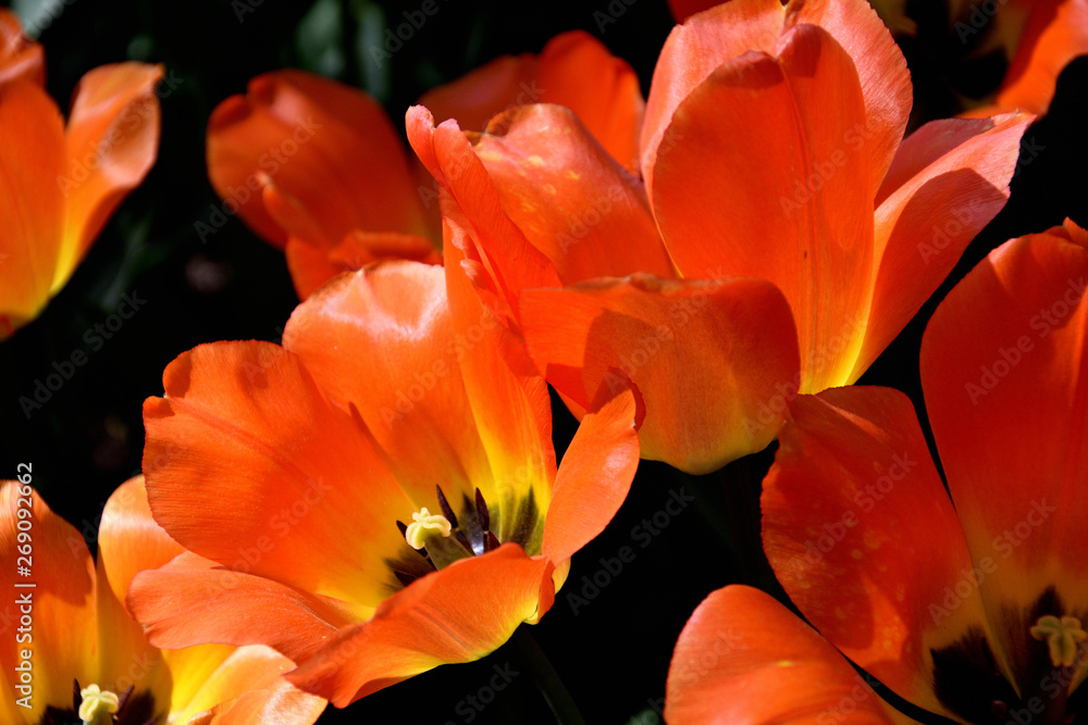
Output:
[[544,524],[544,555],[552,561],[566,561],[592,541],[627,499],[643,412],[630,386],[601,386],[556,476]]

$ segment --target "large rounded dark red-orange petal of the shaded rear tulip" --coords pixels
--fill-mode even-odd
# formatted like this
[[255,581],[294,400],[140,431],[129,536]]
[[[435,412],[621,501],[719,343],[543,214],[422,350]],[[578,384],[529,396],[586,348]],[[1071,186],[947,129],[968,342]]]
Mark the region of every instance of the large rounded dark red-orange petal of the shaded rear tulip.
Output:
[[353,229],[437,236],[382,107],[302,71],[257,76],[246,96],[217,107],[208,123],[208,174],[220,197],[277,247],[299,230],[283,229],[264,208],[260,190],[269,183],[316,221],[305,238],[313,245],[335,245]]

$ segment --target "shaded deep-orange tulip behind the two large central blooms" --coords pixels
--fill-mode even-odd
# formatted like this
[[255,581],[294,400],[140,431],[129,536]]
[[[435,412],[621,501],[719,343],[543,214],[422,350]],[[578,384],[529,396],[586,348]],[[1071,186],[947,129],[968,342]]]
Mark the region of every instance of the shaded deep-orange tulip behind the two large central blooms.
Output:
[[[636,163],[638,77],[581,30],[539,57],[492,61],[421,102],[483,128],[503,109],[540,100],[574,109],[617,159]],[[301,71],[254,78],[212,113],[208,173],[224,208],[284,249],[301,299],[374,260],[441,261],[434,182],[408,164],[385,112],[360,90]]]

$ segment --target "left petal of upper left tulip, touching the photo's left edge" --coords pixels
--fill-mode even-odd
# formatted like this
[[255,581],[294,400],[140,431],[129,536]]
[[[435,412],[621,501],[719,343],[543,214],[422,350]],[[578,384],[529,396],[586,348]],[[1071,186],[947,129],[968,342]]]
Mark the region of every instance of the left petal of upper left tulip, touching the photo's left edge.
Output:
[[34,320],[49,301],[64,236],[64,126],[41,88],[0,86],[0,340]]

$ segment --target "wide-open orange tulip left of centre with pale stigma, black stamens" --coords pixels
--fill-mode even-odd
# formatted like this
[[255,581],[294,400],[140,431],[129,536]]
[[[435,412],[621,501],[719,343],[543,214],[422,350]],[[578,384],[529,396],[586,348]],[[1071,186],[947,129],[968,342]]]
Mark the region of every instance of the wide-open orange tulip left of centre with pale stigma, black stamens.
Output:
[[552,605],[631,484],[636,401],[603,388],[556,471],[547,387],[446,225],[444,268],[342,275],[283,347],[205,345],[166,368],[144,470],[191,553],[129,591],[151,642],[265,643],[344,707]]

